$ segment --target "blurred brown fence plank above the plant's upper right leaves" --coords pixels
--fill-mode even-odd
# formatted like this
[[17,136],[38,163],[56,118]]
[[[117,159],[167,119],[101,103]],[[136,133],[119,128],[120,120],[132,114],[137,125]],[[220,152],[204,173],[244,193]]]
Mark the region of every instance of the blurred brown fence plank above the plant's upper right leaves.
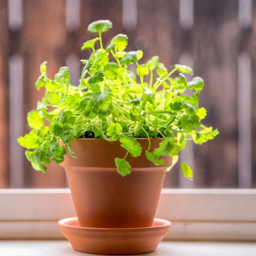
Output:
[[144,51],[144,61],[159,55],[166,67],[174,64],[173,46],[178,42],[178,14],[178,1],[138,1],[138,25],[133,44]]

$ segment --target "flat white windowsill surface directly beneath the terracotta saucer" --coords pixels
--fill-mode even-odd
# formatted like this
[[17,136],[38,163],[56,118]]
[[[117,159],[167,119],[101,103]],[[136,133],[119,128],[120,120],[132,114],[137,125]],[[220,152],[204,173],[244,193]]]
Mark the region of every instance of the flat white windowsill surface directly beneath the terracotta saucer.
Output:
[[[221,242],[161,242],[149,256],[255,256],[256,243]],[[63,240],[4,240],[0,241],[4,256],[95,256],[74,251]],[[141,255],[141,254],[140,254]]]

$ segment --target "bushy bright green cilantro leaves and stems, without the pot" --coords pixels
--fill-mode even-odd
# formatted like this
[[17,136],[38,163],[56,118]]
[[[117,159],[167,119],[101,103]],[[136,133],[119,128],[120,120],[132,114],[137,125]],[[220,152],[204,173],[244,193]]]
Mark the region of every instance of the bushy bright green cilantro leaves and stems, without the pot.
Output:
[[[113,159],[117,172],[125,176],[131,173],[127,155],[142,154],[137,138],[148,139],[145,155],[149,161],[163,165],[161,157],[170,155],[173,166],[186,145],[189,154],[189,140],[203,144],[219,133],[201,123],[207,114],[204,107],[199,107],[202,78],[187,81],[183,73],[192,75],[191,68],[176,64],[168,70],[158,56],[142,63],[142,50],[125,51],[128,37],[124,34],[113,37],[104,48],[101,34],[111,28],[107,20],[88,26],[98,37],[82,46],[91,55],[81,60],[79,86],[70,84],[68,67],[61,67],[51,80],[47,63],[41,64],[35,86],[37,90],[44,87],[45,94],[37,109],[27,115],[32,130],[18,138],[18,143],[27,148],[25,154],[35,170],[46,172],[45,165],[51,161],[61,163],[66,148],[75,157],[70,143],[77,138],[101,138],[119,140],[127,150],[123,159]],[[135,69],[136,74],[132,71]],[[158,148],[151,149],[150,138],[162,138]],[[192,178],[186,160],[181,170],[185,177]]]

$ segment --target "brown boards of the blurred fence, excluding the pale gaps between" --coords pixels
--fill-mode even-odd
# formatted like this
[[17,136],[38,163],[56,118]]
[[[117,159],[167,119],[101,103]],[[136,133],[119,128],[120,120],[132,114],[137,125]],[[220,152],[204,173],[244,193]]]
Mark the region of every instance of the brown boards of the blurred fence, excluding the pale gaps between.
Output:
[[[239,186],[240,127],[237,113],[240,106],[237,63],[241,53],[248,54],[251,59],[252,131],[249,134],[252,148],[251,184],[248,187],[256,187],[256,0],[252,0],[252,20],[249,26],[241,26],[238,20],[241,8],[241,2],[238,0],[194,0],[194,21],[189,28],[182,27],[179,21],[179,0],[133,0],[124,5],[132,6],[133,9],[135,6],[137,11],[136,26],[129,29],[128,26],[123,26],[123,16],[129,16],[128,10],[123,10],[124,1],[128,2],[23,0],[22,24],[13,29],[8,25],[8,8],[11,1],[8,5],[7,0],[0,0],[0,188],[66,186],[64,171],[56,164],[48,168],[46,175],[33,171],[27,160],[24,160],[16,170],[10,171],[10,161],[14,161],[16,157],[13,155],[10,158],[9,155],[9,123],[12,118],[9,111],[11,56],[17,54],[15,56],[20,56],[23,63],[21,113],[26,120],[26,113],[36,107],[37,100],[43,94],[43,91],[34,89],[34,83],[39,75],[39,65],[47,60],[48,74],[53,77],[59,67],[66,64],[68,56],[72,56],[73,59],[74,56],[77,59],[86,58],[87,53],[81,52],[80,46],[93,37],[86,28],[90,22],[98,19],[110,19],[113,22],[113,29],[103,37],[105,43],[117,33],[126,33],[129,37],[128,50],[142,49],[144,61],[150,56],[159,55],[161,62],[168,67],[178,63],[182,54],[186,53],[191,56],[195,75],[202,76],[205,81],[205,89],[201,93],[201,105],[208,109],[205,123],[219,128],[220,134],[215,140],[203,146],[193,147],[194,181],[182,183],[179,168],[176,167],[167,174],[166,187]],[[79,24],[73,29],[68,29],[66,13],[72,11],[70,9],[72,6],[75,8],[77,2],[80,4]],[[69,10],[66,10],[67,7]],[[22,130],[28,131],[27,124],[24,124]],[[22,179],[20,183],[12,185],[11,177],[16,173],[21,175]]]

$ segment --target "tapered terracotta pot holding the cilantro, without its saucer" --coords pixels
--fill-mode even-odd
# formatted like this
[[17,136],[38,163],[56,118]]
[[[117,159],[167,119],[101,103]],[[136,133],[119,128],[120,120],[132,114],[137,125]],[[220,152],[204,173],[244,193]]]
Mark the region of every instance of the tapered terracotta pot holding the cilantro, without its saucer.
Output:
[[[123,158],[126,150],[118,141],[77,139],[71,143],[78,158],[69,153],[61,164],[69,181],[75,211],[82,227],[139,228],[153,224],[155,211],[171,158],[156,166],[146,159],[147,139],[138,139],[141,156],[126,158],[132,173],[122,177],[117,173],[114,159]],[[151,149],[161,139],[151,139]]]

